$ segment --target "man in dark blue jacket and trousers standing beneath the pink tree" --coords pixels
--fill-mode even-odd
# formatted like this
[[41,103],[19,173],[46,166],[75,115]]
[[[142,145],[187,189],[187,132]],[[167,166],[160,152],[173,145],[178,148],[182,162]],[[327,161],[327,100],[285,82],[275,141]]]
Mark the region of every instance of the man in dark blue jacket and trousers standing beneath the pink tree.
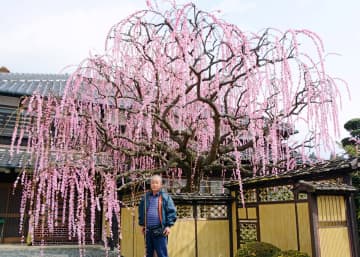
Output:
[[139,205],[139,225],[145,234],[146,257],[168,257],[167,236],[176,221],[176,208],[171,197],[161,191],[162,179],[151,177],[151,191],[141,199]]

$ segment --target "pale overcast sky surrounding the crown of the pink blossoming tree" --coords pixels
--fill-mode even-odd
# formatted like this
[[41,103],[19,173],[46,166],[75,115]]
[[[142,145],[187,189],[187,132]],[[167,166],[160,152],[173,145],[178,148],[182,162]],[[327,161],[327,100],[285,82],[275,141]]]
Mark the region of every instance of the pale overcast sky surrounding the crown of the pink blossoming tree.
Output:
[[[161,4],[163,1],[158,0]],[[177,1],[184,3],[188,1]],[[206,11],[222,10],[223,19],[244,31],[274,27],[310,29],[324,41],[328,73],[347,81],[339,122],[360,117],[359,0],[200,0]],[[12,0],[2,1],[0,66],[19,73],[71,72],[92,53],[102,53],[110,27],[145,0]],[[65,69],[66,68],[66,69]],[[340,140],[347,136],[341,130]]]

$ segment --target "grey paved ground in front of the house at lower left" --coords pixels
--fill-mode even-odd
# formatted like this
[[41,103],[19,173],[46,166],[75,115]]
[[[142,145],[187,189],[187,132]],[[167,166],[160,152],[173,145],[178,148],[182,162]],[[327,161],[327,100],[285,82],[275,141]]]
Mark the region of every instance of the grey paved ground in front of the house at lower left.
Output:
[[[79,257],[79,248],[76,245],[59,246],[26,246],[0,244],[0,257]],[[105,257],[106,251],[101,245],[85,247],[84,257]],[[108,257],[117,257],[118,251],[108,251]]]

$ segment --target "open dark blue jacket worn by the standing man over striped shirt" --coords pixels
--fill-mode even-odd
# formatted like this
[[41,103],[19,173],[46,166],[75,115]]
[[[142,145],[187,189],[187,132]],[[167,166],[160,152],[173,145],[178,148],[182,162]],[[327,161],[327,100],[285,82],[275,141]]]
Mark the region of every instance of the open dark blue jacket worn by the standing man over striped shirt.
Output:
[[[145,198],[146,198],[146,206],[149,206],[150,194],[152,194],[152,192],[147,192],[146,195],[141,198],[141,201],[139,204],[139,225],[140,226],[145,226],[145,222],[146,222]],[[171,227],[172,225],[174,225],[174,223],[176,221],[176,208],[175,208],[174,201],[165,192],[160,191],[160,196],[162,198],[162,209],[161,209],[162,225],[164,227]]]

